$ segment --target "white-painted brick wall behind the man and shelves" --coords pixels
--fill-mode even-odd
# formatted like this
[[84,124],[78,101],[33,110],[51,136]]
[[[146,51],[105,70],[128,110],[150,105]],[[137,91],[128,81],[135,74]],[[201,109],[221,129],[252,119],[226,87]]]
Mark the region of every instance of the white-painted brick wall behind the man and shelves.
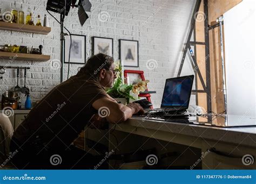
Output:
[[[15,3],[16,2],[16,3]],[[45,10],[46,0],[1,0],[3,9],[20,8],[25,12],[28,7],[33,15],[44,17],[48,14]],[[77,17],[78,9],[71,9],[65,18],[65,26],[73,34],[86,35],[86,58],[91,52],[91,37],[109,37],[114,40],[114,59],[118,59],[118,39],[131,39],[139,41],[139,69],[145,71],[146,79],[150,80],[149,89],[156,90],[152,95],[155,107],[159,107],[166,78],[177,75],[180,56],[186,40],[187,30],[194,1],[190,0],[91,0],[92,8],[84,26],[80,26]],[[99,12],[106,11],[110,17],[107,22],[100,22]],[[53,15],[59,19],[57,13]],[[52,31],[48,35],[22,33],[0,30],[0,45],[17,44],[25,46],[43,45],[43,53],[51,55],[51,59],[60,59],[59,24],[50,17]],[[43,19],[42,19],[43,21]],[[157,68],[150,70],[147,60],[156,60]],[[0,59],[0,65],[6,65],[8,60]],[[26,85],[31,90],[33,101],[40,100],[50,89],[59,83],[59,70],[51,68],[52,62],[21,61],[15,60],[10,66],[26,66],[28,71]],[[77,73],[77,68],[82,65],[71,64],[70,74]],[[65,64],[65,74],[68,66]],[[0,80],[0,94],[16,86],[16,70],[8,69]],[[23,73],[21,74],[23,77]],[[65,75],[66,79],[66,75]],[[22,86],[24,80],[19,82]],[[25,99],[24,99],[25,100]],[[23,100],[23,102],[24,102]]]

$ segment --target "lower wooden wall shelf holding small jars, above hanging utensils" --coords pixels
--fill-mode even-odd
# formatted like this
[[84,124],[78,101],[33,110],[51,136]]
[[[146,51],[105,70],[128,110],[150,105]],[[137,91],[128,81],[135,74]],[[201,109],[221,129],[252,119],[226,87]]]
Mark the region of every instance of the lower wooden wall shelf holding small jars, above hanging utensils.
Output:
[[15,60],[30,60],[30,61],[48,61],[51,59],[50,55],[43,55],[43,54],[0,52],[0,59],[10,59],[10,57],[14,57]]

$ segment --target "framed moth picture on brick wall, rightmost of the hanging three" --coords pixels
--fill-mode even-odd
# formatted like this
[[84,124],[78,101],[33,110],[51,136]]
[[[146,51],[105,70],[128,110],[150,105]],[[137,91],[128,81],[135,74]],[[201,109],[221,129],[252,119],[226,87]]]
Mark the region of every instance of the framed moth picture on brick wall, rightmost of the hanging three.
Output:
[[139,41],[120,39],[119,59],[126,67],[139,67]]

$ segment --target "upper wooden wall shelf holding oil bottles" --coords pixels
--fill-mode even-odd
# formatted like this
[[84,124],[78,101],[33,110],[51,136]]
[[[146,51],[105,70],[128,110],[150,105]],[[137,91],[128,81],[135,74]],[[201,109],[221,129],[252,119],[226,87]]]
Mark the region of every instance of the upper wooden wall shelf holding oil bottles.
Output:
[[38,34],[48,34],[49,32],[51,32],[51,27],[33,26],[33,25],[6,23],[6,22],[0,22],[0,29],[8,30],[8,31],[38,33]]

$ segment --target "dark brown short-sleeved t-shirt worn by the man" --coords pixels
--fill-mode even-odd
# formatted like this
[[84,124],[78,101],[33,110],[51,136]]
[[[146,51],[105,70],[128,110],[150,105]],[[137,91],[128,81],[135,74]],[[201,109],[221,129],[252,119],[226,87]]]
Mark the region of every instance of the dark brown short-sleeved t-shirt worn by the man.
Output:
[[107,98],[102,86],[89,76],[77,74],[53,88],[14,132],[14,138],[29,145],[40,138],[48,148],[66,149],[93,114],[92,103]]

